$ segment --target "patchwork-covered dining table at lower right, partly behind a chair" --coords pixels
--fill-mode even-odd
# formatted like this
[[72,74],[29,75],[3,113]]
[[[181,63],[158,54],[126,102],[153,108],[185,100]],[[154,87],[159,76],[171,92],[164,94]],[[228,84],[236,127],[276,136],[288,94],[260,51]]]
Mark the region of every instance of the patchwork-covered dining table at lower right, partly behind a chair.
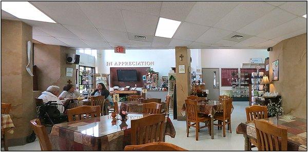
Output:
[[[272,123],[281,128],[287,129],[287,150],[307,151],[307,119],[298,118],[292,115],[282,115],[277,117],[265,118],[269,123]],[[245,143],[244,150],[249,149],[249,139],[257,138],[256,127],[253,121],[242,122],[237,126],[237,134],[243,134]]]

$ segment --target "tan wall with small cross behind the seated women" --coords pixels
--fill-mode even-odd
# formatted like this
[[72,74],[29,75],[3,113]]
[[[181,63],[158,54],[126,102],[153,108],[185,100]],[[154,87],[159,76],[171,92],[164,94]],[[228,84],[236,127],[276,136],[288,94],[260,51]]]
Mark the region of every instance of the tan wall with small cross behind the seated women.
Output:
[[[34,44],[34,65],[37,66],[38,90],[46,90],[50,85],[62,90],[68,80],[75,84],[75,64],[66,63],[66,54],[75,50],[65,46]],[[66,77],[66,67],[74,69],[73,77]]]

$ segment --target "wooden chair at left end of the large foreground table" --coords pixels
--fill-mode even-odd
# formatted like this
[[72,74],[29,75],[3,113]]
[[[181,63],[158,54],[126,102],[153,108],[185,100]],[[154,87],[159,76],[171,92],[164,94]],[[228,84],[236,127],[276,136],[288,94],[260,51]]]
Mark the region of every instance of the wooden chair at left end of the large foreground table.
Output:
[[41,124],[40,119],[30,120],[30,123],[34,133],[36,134],[38,140],[40,141],[41,150],[51,151],[52,149],[50,140],[46,132],[46,126]]

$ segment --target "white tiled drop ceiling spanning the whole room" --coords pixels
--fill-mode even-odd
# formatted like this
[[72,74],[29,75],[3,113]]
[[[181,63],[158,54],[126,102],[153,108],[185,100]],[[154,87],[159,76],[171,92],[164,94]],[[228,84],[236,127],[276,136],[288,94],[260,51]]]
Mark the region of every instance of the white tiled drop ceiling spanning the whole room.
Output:
[[[71,48],[262,49],[306,33],[307,2],[30,2],[57,23],[18,19],[33,27],[33,39]],[[175,35],[156,37],[159,17],[182,21]],[[230,41],[233,34],[240,42]],[[134,40],[134,35],[147,41]]]

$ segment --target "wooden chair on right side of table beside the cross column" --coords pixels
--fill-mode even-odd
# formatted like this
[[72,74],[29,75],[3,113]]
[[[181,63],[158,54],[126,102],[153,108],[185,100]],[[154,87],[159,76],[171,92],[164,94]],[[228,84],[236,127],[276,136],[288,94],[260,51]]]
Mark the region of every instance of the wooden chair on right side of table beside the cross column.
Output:
[[[231,112],[232,112],[232,98],[223,100],[223,112],[214,115],[214,121],[218,120],[217,124],[214,125],[222,126],[223,129],[223,137],[226,136],[225,125],[228,124],[228,129],[231,131]],[[222,124],[221,124],[222,123]]]

